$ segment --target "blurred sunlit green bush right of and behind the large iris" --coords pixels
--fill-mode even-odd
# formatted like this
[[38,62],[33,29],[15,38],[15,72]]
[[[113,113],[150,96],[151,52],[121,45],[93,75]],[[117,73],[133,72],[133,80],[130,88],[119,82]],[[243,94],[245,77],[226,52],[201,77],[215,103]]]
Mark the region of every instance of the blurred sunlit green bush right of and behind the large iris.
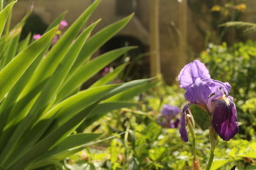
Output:
[[243,139],[255,139],[256,134],[256,42],[235,43],[232,46],[209,44],[201,53],[201,60],[209,68],[212,78],[228,81],[232,86]]

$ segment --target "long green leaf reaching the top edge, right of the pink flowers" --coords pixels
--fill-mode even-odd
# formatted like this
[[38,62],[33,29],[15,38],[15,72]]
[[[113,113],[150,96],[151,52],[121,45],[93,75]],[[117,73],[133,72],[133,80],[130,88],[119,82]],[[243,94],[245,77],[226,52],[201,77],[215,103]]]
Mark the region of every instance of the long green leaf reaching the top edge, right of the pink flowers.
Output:
[[[23,99],[24,97],[28,96],[31,92],[35,95],[29,95],[31,97],[27,97],[28,100],[23,100],[24,102],[26,101],[31,101],[29,105],[27,103],[24,103],[26,106],[26,110],[22,114],[26,114],[27,111],[30,110],[31,106],[33,105],[33,100],[35,99],[36,95],[42,88],[44,87],[44,82],[47,80],[49,76],[55,71],[56,67],[58,64],[60,64],[61,60],[63,59],[65,53],[68,50],[68,46],[72,43],[73,39],[76,38],[76,35],[80,31],[81,27],[86,23],[86,20],[88,20],[88,17],[90,17],[91,13],[97,5],[99,4],[100,0],[95,1],[84,13],[79,17],[76,22],[65,32],[65,34],[61,37],[61,39],[52,47],[50,52],[48,53],[47,57],[45,57],[44,60],[40,63],[39,67],[36,69],[35,73],[33,74],[31,81],[29,81],[28,85],[24,88],[24,90],[21,92],[19,99]],[[67,49],[66,49],[67,48]],[[28,121],[30,118],[28,118]],[[6,148],[10,148],[13,145],[13,142],[17,143],[19,142],[19,138],[16,138],[17,136],[22,136],[21,132],[26,131],[27,129],[22,129],[22,126],[24,124],[26,125],[28,122],[22,122],[22,124],[17,127],[16,131],[13,133],[13,138],[11,138],[10,142],[6,145]],[[15,138],[15,139],[14,139]],[[13,140],[12,140],[13,139]],[[13,145],[13,147],[15,147]],[[13,148],[12,147],[12,148]],[[3,152],[0,155],[0,160],[1,157],[4,157],[4,161],[8,159],[6,157],[6,153],[10,155],[11,152],[7,151],[6,148],[4,148]]]

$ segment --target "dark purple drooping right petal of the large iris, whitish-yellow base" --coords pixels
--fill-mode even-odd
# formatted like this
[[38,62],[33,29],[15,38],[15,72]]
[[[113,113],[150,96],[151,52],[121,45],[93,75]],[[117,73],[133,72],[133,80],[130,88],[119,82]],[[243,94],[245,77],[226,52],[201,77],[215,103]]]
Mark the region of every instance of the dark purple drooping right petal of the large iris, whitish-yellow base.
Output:
[[212,127],[221,139],[229,141],[239,131],[236,105],[230,96],[216,99],[213,102],[215,108],[212,113]]

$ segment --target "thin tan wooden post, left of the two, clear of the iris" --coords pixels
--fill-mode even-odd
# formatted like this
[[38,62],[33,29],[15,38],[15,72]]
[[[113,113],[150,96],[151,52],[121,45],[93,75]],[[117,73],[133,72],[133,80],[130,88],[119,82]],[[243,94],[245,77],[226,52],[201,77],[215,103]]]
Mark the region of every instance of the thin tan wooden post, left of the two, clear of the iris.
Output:
[[161,74],[159,46],[159,0],[150,0],[150,75]]

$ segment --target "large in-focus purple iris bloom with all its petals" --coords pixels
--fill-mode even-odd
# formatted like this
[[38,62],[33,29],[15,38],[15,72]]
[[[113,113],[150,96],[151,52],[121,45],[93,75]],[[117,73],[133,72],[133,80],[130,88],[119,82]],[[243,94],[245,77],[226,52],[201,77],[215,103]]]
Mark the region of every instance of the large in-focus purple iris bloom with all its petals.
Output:
[[229,141],[238,132],[236,105],[228,96],[231,86],[211,78],[204,63],[195,60],[187,64],[179,74],[180,87],[186,90],[189,101],[184,104],[180,118],[180,136],[188,141],[186,111],[191,103],[203,108],[211,117],[211,125],[221,139]]

